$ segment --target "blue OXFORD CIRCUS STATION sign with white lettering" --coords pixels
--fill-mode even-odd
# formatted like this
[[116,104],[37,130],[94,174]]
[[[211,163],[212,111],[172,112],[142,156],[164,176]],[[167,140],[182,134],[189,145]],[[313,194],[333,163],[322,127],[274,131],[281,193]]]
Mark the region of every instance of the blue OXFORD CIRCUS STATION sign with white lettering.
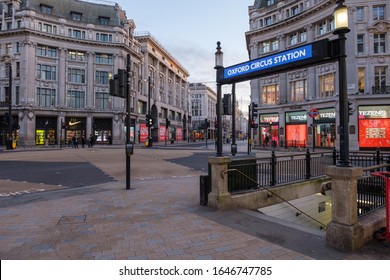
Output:
[[312,45],[306,45],[300,48],[288,50],[271,56],[252,60],[224,69],[224,79],[233,78],[251,72],[265,70],[271,67],[277,67],[313,57]]

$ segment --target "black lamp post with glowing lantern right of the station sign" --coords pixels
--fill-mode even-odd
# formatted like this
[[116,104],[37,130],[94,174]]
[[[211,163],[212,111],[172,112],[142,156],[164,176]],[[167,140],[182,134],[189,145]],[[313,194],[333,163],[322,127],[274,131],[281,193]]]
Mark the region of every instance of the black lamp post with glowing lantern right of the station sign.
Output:
[[339,122],[340,122],[340,159],[339,167],[350,167],[349,163],[349,135],[348,135],[348,96],[347,96],[347,66],[346,66],[346,37],[348,29],[348,9],[344,0],[336,1],[338,6],[334,10],[335,30],[339,41]]

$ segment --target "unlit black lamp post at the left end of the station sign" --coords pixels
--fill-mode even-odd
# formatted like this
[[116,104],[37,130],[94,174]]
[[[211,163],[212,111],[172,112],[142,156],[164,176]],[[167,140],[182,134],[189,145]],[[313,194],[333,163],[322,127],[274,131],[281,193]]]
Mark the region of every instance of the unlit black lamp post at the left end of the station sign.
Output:
[[220,82],[221,72],[223,73],[223,52],[221,42],[217,42],[215,53],[215,70],[217,70],[217,157],[222,156],[222,84]]

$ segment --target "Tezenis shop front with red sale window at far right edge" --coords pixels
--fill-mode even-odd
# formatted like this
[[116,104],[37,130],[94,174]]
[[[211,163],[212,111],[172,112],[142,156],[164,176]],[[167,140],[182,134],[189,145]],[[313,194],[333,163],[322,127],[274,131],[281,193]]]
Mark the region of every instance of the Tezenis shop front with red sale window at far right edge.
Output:
[[390,149],[390,106],[359,106],[359,148]]

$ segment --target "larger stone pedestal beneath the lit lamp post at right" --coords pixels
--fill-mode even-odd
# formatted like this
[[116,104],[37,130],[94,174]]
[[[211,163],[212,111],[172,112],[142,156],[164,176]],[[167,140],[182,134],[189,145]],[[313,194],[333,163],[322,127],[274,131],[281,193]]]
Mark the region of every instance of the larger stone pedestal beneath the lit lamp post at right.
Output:
[[328,166],[326,174],[332,178],[332,222],[326,228],[326,242],[354,251],[364,244],[357,216],[357,180],[363,168]]

